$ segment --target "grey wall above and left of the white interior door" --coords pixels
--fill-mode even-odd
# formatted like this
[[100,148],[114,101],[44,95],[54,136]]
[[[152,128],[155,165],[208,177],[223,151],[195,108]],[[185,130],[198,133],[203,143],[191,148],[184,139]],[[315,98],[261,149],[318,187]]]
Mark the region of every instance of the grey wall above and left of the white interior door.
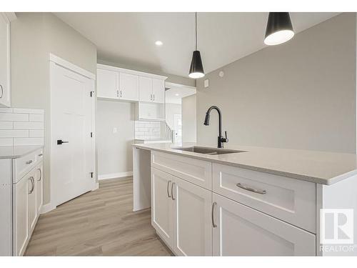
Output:
[[11,104],[45,110],[44,204],[50,201],[49,53],[96,74],[96,46],[51,13],[16,13],[11,22]]

